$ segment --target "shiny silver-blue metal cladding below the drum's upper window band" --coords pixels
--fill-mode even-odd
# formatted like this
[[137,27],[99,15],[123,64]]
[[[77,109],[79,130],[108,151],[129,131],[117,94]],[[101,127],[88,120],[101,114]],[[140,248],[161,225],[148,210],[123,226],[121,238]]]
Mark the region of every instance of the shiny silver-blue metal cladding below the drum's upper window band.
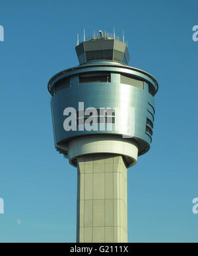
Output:
[[[100,67],[100,70],[114,70],[114,68]],[[118,68],[119,72],[123,74],[123,70]],[[98,68],[92,68],[98,71]],[[127,74],[127,73],[126,73]],[[57,145],[63,143],[63,141],[70,141],[75,137],[84,135],[131,135],[130,139],[137,141],[139,144],[139,154],[141,155],[145,150],[149,150],[151,139],[146,132],[147,117],[154,115],[153,109],[150,105],[154,105],[154,97],[149,94],[149,86],[147,83],[144,85],[144,89],[137,86],[131,86],[128,84],[120,83],[120,74],[112,73],[111,82],[91,82],[79,84],[78,74],[75,73],[75,78],[72,78],[71,87],[67,87],[56,94],[52,98],[53,109],[53,121],[55,139]],[[135,115],[133,124],[135,125],[134,133],[130,134],[129,123],[121,125],[120,129],[115,129],[114,123],[112,124],[112,131],[65,131],[63,129],[63,122],[67,116],[63,115],[63,111],[66,107],[74,107],[77,111],[79,109],[79,102],[84,102],[84,109],[87,107],[111,107],[121,109],[121,116],[116,117],[118,123],[125,123],[126,111],[135,109]],[[150,105],[148,104],[150,102]],[[148,112],[150,109],[150,112]],[[152,121],[152,120],[151,120]]]

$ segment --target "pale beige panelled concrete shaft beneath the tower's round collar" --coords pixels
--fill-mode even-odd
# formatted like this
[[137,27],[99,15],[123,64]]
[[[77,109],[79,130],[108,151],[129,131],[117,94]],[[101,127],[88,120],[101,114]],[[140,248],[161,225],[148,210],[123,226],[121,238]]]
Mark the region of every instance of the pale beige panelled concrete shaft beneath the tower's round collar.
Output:
[[127,168],[121,156],[78,158],[77,242],[127,242]]

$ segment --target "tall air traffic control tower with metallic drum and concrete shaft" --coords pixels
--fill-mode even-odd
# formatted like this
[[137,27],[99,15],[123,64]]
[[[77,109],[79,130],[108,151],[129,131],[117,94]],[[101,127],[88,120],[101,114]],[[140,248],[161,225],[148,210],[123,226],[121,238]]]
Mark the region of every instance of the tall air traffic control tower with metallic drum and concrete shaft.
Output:
[[55,149],[77,167],[77,242],[127,242],[127,168],[152,142],[158,82],[99,31],[48,83]]

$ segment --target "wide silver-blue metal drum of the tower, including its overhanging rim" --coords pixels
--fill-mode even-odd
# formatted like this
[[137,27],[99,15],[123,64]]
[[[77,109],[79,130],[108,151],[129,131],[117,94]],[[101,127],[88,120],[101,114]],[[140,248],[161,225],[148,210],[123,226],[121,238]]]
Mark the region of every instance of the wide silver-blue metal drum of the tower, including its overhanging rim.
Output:
[[[108,80],[98,79],[98,76],[102,78],[106,74]],[[65,157],[69,141],[86,135],[125,137],[125,140],[137,143],[138,155],[149,151],[154,122],[154,94],[158,90],[158,83],[147,72],[114,61],[88,62],[53,76],[49,80],[48,90],[52,96],[55,147]],[[114,122],[110,131],[107,128],[104,131],[79,131],[78,125],[77,131],[65,131],[63,122],[66,117],[63,111],[66,107],[73,107],[78,111],[79,102],[84,102],[84,109],[110,107],[119,109],[121,115],[113,116]],[[133,129],[126,120],[131,109],[134,111]],[[118,128],[115,123],[120,124]]]

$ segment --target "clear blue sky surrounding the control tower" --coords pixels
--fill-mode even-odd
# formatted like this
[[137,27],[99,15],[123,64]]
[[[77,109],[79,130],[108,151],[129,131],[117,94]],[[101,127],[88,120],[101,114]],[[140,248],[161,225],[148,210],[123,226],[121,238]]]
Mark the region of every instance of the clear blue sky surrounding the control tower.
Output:
[[0,241],[75,241],[77,170],[54,149],[47,84],[78,65],[77,32],[114,27],[130,66],[159,82],[151,150],[128,172],[129,241],[198,241],[197,11],[195,0],[1,1]]

